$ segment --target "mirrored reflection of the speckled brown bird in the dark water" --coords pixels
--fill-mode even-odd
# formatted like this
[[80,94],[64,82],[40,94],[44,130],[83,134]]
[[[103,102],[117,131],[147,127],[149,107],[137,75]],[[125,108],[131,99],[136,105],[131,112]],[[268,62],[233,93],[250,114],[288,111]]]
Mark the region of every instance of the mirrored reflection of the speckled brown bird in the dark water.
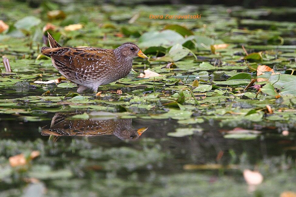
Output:
[[90,119],[68,118],[75,114],[56,113],[50,125],[42,128],[41,135],[53,135],[55,142],[60,136],[98,136],[115,135],[121,140],[138,139],[148,127],[135,129],[131,123],[132,119],[118,119],[112,113],[100,113],[99,117]]

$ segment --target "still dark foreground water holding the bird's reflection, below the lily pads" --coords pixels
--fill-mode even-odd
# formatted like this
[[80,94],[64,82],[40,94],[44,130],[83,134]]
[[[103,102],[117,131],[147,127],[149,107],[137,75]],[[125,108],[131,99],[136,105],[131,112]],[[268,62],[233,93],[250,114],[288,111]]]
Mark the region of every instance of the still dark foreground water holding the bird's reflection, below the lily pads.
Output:
[[[285,136],[282,128],[253,123],[236,128],[258,128],[260,133],[243,131],[246,136],[240,136],[240,131],[227,138],[225,133],[233,127],[221,128],[212,120],[185,125],[104,113],[104,118],[69,118],[73,114],[77,113],[48,113],[39,122],[1,115],[2,155],[41,151],[29,173],[43,180],[34,191],[46,187],[49,196],[278,196],[295,189],[295,130]],[[138,129],[145,127],[139,136]],[[193,134],[185,135],[188,130]],[[263,174],[264,182],[255,191],[245,183],[244,169]],[[18,195],[15,184],[1,185],[2,195]],[[25,192],[30,189],[30,184],[23,185]]]

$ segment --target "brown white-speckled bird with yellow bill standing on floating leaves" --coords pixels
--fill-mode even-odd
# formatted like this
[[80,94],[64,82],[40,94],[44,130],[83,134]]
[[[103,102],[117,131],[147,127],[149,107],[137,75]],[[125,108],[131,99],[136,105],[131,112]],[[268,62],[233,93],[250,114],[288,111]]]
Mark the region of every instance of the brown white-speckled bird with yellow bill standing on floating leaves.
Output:
[[87,88],[97,92],[100,85],[125,77],[131,71],[132,59],[136,56],[148,59],[131,42],[112,50],[61,47],[49,33],[48,40],[50,47],[42,47],[41,53],[51,58],[53,66],[65,78],[78,85],[78,93]]

